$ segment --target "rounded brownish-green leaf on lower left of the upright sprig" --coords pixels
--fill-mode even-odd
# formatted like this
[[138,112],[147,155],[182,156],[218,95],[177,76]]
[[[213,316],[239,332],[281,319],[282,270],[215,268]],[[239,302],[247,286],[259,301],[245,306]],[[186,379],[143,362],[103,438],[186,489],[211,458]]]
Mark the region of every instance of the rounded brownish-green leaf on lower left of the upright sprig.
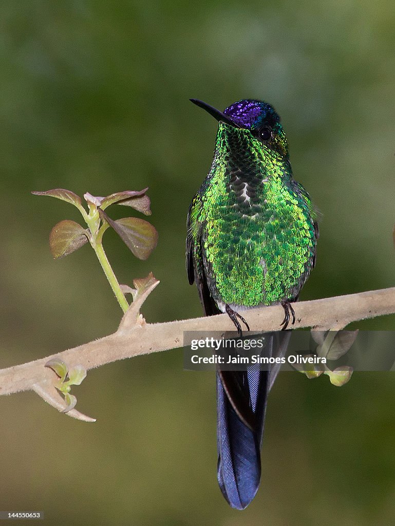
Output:
[[87,241],[85,229],[69,219],[57,223],[49,234],[49,247],[55,259],[71,254]]

